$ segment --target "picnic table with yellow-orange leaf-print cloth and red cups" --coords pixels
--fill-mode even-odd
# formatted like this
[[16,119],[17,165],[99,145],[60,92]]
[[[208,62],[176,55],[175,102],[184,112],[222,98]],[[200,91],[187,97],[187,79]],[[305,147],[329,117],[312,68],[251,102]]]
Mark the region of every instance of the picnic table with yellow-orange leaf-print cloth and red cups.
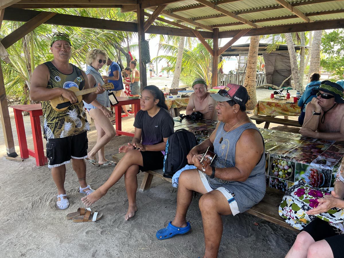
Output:
[[[296,120],[291,120],[288,116],[299,116],[301,113],[301,108],[297,103],[287,103],[292,102],[293,98],[290,99],[274,99],[274,98],[264,98],[258,100],[254,115],[250,118],[256,120],[257,125],[265,122],[264,128],[269,128],[271,123],[279,123],[281,125],[289,125],[301,127],[301,125]],[[276,118],[276,116],[284,116],[282,118]]]

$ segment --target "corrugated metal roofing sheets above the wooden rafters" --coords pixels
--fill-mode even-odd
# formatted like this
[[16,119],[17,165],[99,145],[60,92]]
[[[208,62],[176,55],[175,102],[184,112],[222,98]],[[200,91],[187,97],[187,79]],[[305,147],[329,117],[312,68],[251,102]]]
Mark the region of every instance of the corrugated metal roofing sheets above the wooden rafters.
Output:
[[[209,1],[209,0],[208,0]],[[303,13],[313,13],[313,12],[323,12],[323,11],[332,11],[332,10],[344,10],[344,0],[328,0],[323,3],[312,3],[315,0],[286,0],[290,4],[295,3],[307,3],[306,5],[295,5],[299,11]],[[214,0],[210,0],[210,2],[215,3]],[[190,7],[190,6],[199,6],[200,3],[195,0],[185,0],[180,2],[175,2],[168,4],[166,10],[174,10],[173,14],[180,15],[187,19],[195,19],[199,17],[206,17],[211,15],[221,14],[220,11],[215,10],[211,7],[199,7],[195,9],[189,9],[184,11],[177,11],[179,8]],[[218,7],[221,7],[229,12],[238,14],[239,17],[244,18],[249,21],[256,21],[261,19],[269,19],[269,18],[278,18],[274,19],[273,21],[260,21],[257,22],[257,25],[265,27],[265,26],[277,26],[277,25],[285,25],[285,24],[298,24],[304,22],[301,18],[290,18],[286,19],[286,16],[294,16],[295,14],[292,13],[287,8],[282,8],[275,0],[238,0],[230,3],[225,4],[218,4]],[[271,10],[261,10],[262,8],[269,8]],[[248,12],[244,14],[240,14],[240,12],[246,12],[250,10],[255,10],[254,12]],[[283,17],[284,16],[284,17]],[[312,21],[322,21],[322,20],[332,20],[332,19],[344,19],[344,12],[342,13],[333,13],[333,14],[323,14],[323,15],[314,15],[309,17]],[[236,23],[239,22],[237,19],[233,17],[217,17],[217,18],[208,18],[202,20],[196,20],[197,23],[212,26],[218,24],[228,24],[228,23]],[[252,28],[247,24],[239,24],[239,25],[232,25],[232,26],[223,26],[219,27],[219,31],[232,31],[232,30],[240,30],[240,29],[247,29]]]

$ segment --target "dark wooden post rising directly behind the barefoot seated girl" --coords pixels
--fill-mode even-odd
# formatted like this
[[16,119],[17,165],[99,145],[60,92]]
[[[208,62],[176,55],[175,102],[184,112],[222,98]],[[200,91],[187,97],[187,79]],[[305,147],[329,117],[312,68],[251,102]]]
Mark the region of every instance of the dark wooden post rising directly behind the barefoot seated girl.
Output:
[[142,61],[142,49],[141,49],[141,41],[144,41],[146,38],[144,36],[144,9],[141,9],[140,4],[137,5],[137,31],[138,31],[138,39],[139,39],[139,65],[140,65],[140,84],[141,84],[141,92],[144,87],[147,86],[147,71],[146,71],[146,64]]

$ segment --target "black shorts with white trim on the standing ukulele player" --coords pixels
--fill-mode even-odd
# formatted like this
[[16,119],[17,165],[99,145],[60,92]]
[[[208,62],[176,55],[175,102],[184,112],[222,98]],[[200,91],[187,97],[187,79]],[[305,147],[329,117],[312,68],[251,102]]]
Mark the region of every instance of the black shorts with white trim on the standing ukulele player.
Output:
[[46,157],[48,168],[55,168],[71,162],[73,159],[87,157],[88,139],[87,131],[78,135],[64,138],[48,139],[46,143]]

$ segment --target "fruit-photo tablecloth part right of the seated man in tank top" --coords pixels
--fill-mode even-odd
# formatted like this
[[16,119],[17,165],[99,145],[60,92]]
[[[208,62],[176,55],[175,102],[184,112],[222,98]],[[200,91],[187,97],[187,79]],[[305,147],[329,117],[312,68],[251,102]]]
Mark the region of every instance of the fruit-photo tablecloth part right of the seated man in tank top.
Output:
[[286,191],[303,179],[313,187],[333,187],[344,142],[270,129],[260,132],[265,142],[267,186]]

